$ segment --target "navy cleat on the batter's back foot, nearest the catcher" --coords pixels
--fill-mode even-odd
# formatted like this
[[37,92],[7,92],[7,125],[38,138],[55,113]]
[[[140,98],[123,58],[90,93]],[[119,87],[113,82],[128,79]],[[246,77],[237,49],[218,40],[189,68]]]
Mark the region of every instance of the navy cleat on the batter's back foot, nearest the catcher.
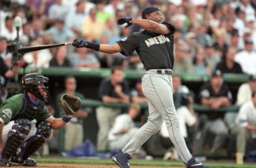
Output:
[[118,154],[112,157],[112,160],[121,168],[130,168],[129,159],[131,159],[131,156],[123,153],[122,150],[119,150]]

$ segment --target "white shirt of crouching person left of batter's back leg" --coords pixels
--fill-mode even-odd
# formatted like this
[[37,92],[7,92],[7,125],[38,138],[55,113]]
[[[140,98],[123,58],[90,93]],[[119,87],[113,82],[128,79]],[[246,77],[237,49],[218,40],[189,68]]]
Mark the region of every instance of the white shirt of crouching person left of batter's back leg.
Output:
[[113,127],[108,133],[108,140],[115,140],[119,137],[118,133],[125,128],[134,128],[135,124],[129,114],[118,115]]

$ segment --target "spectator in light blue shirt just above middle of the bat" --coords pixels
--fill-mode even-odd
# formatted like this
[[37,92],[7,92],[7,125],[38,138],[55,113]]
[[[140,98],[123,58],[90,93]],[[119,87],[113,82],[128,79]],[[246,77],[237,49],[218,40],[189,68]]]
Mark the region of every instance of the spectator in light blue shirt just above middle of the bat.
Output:
[[65,21],[62,19],[56,19],[54,26],[47,30],[47,32],[51,33],[55,43],[65,43],[74,36],[74,32],[65,27]]

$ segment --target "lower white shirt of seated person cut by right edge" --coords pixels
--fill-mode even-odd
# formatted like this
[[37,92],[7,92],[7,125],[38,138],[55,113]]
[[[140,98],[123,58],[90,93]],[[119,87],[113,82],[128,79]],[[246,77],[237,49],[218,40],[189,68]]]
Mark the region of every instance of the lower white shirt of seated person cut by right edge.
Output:
[[256,125],[256,108],[252,100],[244,103],[239,109],[235,123],[241,125],[241,127],[245,127],[248,124]]

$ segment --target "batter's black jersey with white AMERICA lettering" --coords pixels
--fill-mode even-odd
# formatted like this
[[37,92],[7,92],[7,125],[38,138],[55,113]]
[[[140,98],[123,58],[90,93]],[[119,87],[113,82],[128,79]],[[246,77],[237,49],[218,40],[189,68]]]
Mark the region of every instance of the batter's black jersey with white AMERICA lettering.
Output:
[[164,22],[172,31],[167,35],[161,35],[151,31],[134,32],[127,38],[117,41],[123,49],[124,56],[129,56],[136,51],[146,70],[150,69],[172,69],[173,43],[175,28]]

